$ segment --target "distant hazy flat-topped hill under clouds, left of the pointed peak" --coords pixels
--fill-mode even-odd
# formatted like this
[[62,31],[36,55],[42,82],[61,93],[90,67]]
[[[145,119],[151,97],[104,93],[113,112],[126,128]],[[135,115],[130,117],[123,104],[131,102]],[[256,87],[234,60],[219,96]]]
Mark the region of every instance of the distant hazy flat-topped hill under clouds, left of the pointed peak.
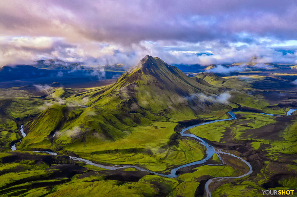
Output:
[[47,60],[38,60],[34,61],[35,64],[33,65],[36,68],[39,69],[84,69],[84,66],[82,66],[80,63],[77,62],[64,62],[60,59],[47,59]]

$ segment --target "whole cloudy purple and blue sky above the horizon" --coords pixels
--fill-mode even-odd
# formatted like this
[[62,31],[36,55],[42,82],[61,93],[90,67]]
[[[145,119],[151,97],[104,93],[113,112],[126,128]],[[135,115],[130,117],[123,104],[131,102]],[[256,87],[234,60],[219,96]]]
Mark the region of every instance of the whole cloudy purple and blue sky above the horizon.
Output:
[[0,1],[0,66],[59,58],[87,65],[297,63],[297,1]]

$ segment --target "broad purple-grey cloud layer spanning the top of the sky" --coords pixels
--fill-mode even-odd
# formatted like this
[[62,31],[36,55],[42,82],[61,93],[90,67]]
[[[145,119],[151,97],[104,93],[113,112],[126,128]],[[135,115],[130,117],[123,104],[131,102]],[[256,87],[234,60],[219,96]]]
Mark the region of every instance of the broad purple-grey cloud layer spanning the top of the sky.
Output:
[[[17,14],[16,14],[17,11]],[[139,42],[218,37],[249,32],[296,37],[296,2],[286,1],[1,1],[1,29],[8,34],[63,36],[69,40]],[[131,14],[133,13],[133,14]],[[154,17],[151,17],[154,16]],[[34,21],[34,23],[32,23]],[[35,29],[32,32],[30,30]]]

